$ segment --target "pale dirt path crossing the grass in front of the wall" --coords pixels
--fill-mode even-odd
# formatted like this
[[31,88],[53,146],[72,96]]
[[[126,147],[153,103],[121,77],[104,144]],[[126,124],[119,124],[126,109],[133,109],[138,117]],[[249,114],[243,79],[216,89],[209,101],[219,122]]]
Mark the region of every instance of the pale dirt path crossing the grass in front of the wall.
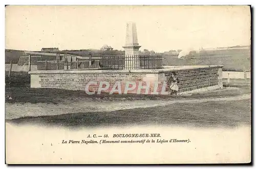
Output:
[[110,112],[134,108],[148,108],[157,106],[167,106],[172,104],[199,104],[204,102],[223,102],[223,101],[239,101],[250,99],[250,94],[240,94],[238,96],[219,96],[206,97],[202,99],[178,98],[178,99],[159,99],[159,100],[114,100],[109,98],[102,99],[84,99],[76,101],[68,101],[66,103],[6,103],[6,118],[19,118],[25,116],[42,116],[56,115],[78,112]]

